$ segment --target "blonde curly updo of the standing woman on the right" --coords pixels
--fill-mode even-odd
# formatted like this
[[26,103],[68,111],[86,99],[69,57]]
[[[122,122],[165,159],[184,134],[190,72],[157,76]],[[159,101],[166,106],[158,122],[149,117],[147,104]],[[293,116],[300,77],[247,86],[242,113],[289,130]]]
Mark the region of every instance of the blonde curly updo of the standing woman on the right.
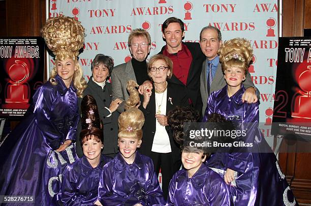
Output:
[[225,41],[219,50],[219,58],[222,63],[222,71],[225,74],[227,68],[238,67],[247,74],[247,69],[252,63],[253,49],[250,41],[244,38],[234,38]]

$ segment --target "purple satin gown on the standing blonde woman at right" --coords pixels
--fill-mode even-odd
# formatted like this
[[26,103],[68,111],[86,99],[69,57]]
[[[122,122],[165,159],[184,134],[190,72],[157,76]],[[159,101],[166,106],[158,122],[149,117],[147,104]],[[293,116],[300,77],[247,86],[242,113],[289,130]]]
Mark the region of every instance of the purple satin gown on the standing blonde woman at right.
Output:
[[211,113],[219,113],[237,128],[247,124],[247,135],[243,141],[253,143],[253,147],[242,153],[215,153],[206,163],[222,177],[227,168],[237,171],[237,177],[230,185],[235,205],[295,205],[296,200],[285,175],[258,128],[259,102],[243,103],[244,91],[241,85],[241,89],[231,97],[227,94],[227,86],[212,92],[203,122]]

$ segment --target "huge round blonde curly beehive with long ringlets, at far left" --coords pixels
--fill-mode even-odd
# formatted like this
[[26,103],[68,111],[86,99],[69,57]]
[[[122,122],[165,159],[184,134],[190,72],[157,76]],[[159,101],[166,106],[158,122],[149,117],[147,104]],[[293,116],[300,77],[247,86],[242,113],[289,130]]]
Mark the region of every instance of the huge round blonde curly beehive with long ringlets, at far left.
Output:
[[73,83],[77,89],[77,96],[83,97],[83,90],[87,85],[77,57],[79,50],[84,45],[84,27],[72,17],[58,16],[49,19],[41,28],[41,33],[47,47],[55,55],[55,65],[50,72],[49,81],[53,85],[57,85],[55,81],[57,61],[71,58],[74,60],[76,66]]

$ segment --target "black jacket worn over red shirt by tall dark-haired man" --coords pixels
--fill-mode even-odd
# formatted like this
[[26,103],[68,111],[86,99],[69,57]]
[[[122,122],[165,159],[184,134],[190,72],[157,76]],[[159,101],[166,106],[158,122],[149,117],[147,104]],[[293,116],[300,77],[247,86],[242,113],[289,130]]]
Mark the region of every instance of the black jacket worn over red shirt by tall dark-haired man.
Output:
[[[182,42],[182,44],[184,44],[189,49],[192,55],[192,62],[190,65],[187,83],[186,85],[184,85],[179,79],[177,79],[175,75],[173,75],[172,78],[168,81],[184,86],[187,95],[192,100],[194,108],[199,112],[199,114],[201,114],[202,99],[200,93],[200,75],[202,71],[202,63],[205,60],[205,56],[202,53],[199,43]],[[165,47],[166,46],[162,47],[159,54],[163,53]]]

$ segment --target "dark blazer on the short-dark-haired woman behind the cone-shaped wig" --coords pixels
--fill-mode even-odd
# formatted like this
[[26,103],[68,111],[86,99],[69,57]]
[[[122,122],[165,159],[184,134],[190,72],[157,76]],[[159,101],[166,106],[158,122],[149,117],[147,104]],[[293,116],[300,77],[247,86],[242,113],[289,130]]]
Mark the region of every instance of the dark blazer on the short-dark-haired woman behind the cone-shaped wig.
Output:
[[[109,108],[112,100],[112,89],[111,84],[106,81],[104,89],[101,86],[92,81],[92,77],[88,80],[87,87],[83,91],[83,96],[86,94],[92,95],[95,98],[96,104],[98,107],[100,118],[103,122],[104,130],[104,149],[102,154],[114,154],[118,153],[118,117],[119,113],[117,111],[113,112],[110,115],[110,112],[105,108]],[[81,111],[81,101],[82,98],[79,98],[79,111]],[[109,117],[107,117],[109,116]],[[82,156],[83,151],[80,146],[79,134],[81,131],[81,123],[78,125],[77,132],[77,145],[76,151],[79,157]]]

